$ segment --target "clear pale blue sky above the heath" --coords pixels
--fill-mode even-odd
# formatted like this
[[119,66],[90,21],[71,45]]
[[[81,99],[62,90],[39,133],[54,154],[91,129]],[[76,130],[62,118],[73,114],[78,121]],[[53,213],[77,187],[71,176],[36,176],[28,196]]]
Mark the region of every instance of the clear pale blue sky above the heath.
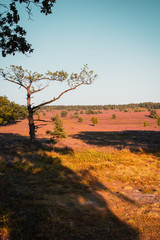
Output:
[[[54,105],[107,105],[160,102],[159,0],[57,0],[51,15],[33,8],[21,24],[34,52],[0,57],[0,68],[80,72],[84,64],[98,74],[92,85],[63,95]],[[32,104],[57,97],[67,85],[50,85]],[[0,96],[26,104],[26,93],[0,77]]]

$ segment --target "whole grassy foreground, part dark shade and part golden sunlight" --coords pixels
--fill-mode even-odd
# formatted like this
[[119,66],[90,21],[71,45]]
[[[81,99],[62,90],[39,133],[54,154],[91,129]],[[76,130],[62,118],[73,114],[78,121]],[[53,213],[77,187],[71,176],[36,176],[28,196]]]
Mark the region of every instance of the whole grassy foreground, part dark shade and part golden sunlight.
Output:
[[0,237],[158,239],[159,164],[113,147],[2,149]]

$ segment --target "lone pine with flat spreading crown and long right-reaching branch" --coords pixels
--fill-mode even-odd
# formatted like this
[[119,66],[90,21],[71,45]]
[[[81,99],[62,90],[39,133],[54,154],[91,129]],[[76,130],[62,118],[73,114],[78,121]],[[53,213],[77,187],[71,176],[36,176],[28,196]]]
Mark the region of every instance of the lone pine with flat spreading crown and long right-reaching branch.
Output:
[[[24,88],[26,90],[27,95],[27,109],[28,109],[28,124],[29,124],[29,135],[30,141],[34,142],[36,139],[35,136],[35,124],[33,119],[33,114],[40,107],[50,104],[54,101],[57,101],[62,95],[65,93],[76,89],[77,87],[83,84],[91,84],[95,78],[97,78],[96,74],[93,74],[93,71],[88,71],[88,66],[84,65],[81,72],[79,74],[72,73],[70,76],[67,72],[57,71],[50,72],[48,71],[45,74],[39,74],[37,72],[31,72],[28,70],[24,70],[21,66],[11,65],[10,68],[4,71],[0,69],[0,74],[4,78],[4,80],[9,81],[18,85],[20,88]],[[68,88],[59,94],[57,97],[53,97],[52,99],[45,101],[36,106],[33,106],[31,103],[31,98],[33,94],[38,93],[49,86],[51,82],[67,82]]]

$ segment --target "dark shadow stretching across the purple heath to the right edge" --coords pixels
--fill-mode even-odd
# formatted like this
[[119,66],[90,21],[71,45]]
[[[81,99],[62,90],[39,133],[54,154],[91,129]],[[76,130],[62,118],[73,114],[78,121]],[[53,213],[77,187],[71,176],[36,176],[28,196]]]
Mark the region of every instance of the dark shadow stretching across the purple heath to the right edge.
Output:
[[113,131],[80,132],[72,136],[85,143],[97,146],[113,146],[117,149],[129,148],[131,151],[160,152],[159,131]]

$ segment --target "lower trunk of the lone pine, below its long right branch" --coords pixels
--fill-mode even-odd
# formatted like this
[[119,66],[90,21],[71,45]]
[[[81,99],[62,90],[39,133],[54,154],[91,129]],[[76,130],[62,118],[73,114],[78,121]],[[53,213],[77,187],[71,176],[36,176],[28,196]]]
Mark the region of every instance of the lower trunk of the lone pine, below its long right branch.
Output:
[[36,140],[35,125],[34,125],[34,119],[33,119],[33,110],[31,106],[28,106],[28,124],[29,124],[30,141],[35,142]]

